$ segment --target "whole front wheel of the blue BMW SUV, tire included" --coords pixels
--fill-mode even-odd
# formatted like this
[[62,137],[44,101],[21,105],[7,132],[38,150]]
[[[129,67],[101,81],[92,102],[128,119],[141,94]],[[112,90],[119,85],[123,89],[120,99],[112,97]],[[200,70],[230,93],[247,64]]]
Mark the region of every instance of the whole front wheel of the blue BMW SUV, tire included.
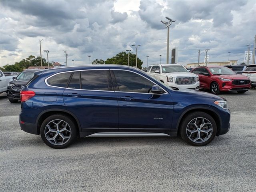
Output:
[[204,112],[190,113],[182,120],[180,135],[184,141],[194,146],[210,143],[217,132],[216,122]]

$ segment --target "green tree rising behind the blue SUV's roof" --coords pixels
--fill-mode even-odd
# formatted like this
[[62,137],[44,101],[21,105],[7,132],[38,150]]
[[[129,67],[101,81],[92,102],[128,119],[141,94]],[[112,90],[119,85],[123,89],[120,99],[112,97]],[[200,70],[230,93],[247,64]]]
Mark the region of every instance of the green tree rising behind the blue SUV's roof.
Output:
[[[138,68],[142,68],[143,61],[137,58],[137,66]],[[116,64],[116,65],[128,65],[128,53],[126,52],[120,52],[116,54],[112,58],[108,58],[105,61],[105,64]],[[133,53],[130,53],[130,66],[136,66],[136,55]]]

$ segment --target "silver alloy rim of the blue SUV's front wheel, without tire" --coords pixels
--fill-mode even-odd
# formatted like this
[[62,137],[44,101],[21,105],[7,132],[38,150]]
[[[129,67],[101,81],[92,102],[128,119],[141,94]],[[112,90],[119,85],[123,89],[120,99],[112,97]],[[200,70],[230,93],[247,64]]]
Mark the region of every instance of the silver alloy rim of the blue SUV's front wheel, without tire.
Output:
[[188,138],[195,143],[206,142],[212,136],[211,122],[203,117],[192,119],[186,128]]

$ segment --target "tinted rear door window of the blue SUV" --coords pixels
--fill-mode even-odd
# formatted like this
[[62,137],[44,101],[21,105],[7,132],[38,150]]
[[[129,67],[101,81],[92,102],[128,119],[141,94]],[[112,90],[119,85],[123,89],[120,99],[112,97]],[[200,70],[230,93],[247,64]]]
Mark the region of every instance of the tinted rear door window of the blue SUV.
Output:
[[86,90],[113,90],[109,70],[81,71],[82,89]]

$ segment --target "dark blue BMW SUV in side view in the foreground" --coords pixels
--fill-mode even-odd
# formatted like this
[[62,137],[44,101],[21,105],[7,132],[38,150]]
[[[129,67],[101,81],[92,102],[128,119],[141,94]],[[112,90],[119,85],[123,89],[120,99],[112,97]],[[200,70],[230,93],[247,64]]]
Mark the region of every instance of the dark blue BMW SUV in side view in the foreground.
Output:
[[20,127],[52,148],[76,137],[177,136],[204,146],[228,132],[219,96],[168,87],[129,66],[90,65],[38,71],[21,90]]

